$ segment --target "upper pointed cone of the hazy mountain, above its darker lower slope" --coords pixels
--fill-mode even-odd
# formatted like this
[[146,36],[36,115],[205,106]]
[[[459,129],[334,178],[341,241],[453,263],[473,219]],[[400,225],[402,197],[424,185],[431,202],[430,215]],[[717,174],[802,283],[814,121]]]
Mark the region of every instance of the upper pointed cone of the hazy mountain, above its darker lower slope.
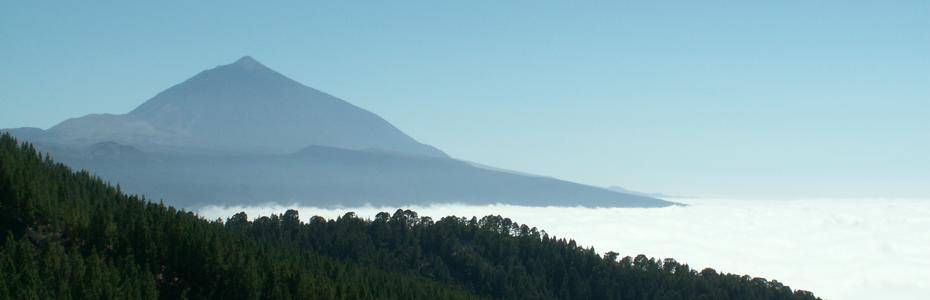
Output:
[[291,153],[310,145],[445,157],[381,117],[245,56],[203,71],[125,115],[51,128],[54,142],[113,141],[147,151]]

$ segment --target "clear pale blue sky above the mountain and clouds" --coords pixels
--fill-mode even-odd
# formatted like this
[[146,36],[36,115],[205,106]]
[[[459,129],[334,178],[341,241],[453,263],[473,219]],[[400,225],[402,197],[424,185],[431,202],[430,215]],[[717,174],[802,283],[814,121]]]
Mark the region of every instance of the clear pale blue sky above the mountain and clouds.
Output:
[[128,2],[0,0],[0,128],[128,112],[251,55],[503,168],[930,197],[924,0]]

